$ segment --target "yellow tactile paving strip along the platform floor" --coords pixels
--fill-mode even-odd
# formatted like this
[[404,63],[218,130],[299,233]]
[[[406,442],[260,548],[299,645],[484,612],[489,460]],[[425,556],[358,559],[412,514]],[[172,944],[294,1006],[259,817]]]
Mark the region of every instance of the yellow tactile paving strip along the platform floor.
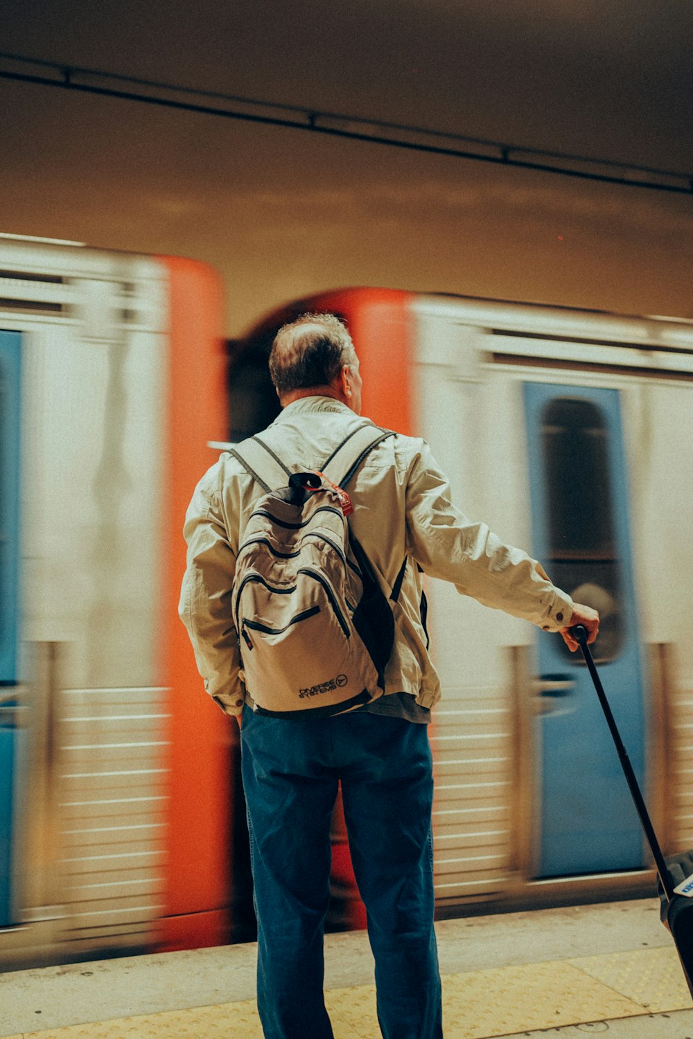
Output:
[[[335,1039],[380,1039],[375,988],[331,989]],[[539,1029],[691,1008],[673,948],[447,975],[446,1039],[489,1039]],[[255,1001],[124,1017],[6,1039],[262,1039]]]

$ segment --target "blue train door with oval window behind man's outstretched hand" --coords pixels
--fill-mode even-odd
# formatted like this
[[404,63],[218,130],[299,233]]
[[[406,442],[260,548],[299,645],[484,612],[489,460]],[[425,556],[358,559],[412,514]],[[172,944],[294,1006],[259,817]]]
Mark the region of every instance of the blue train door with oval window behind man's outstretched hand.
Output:
[[[642,783],[644,691],[616,390],[526,382],[533,551],[552,581],[599,611],[594,657]],[[643,865],[640,825],[580,654],[540,634],[537,876]]]

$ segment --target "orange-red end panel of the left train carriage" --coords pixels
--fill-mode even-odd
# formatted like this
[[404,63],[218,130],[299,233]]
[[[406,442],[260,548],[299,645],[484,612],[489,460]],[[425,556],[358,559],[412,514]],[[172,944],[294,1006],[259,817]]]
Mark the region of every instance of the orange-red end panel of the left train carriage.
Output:
[[225,438],[224,353],[218,277],[192,260],[160,258],[169,278],[167,448],[161,670],[169,690],[166,890],[160,948],[220,944],[228,932],[234,724],[207,696],[178,616],[183,523],[193,488]]

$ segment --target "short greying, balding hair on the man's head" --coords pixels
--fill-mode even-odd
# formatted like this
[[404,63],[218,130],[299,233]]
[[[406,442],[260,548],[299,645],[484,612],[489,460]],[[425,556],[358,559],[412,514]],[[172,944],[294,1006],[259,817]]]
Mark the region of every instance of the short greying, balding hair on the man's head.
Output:
[[269,374],[279,397],[327,385],[355,357],[346,325],[334,314],[301,314],[274,337]]

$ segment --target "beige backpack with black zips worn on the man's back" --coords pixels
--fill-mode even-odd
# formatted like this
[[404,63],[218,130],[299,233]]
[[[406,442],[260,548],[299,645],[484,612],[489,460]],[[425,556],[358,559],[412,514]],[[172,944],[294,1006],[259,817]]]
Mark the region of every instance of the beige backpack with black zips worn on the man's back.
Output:
[[350,532],[345,487],[392,435],[367,422],[314,473],[291,472],[259,436],[231,451],[265,491],[241,538],[232,593],[258,714],[324,717],[382,695],[393,614]]

